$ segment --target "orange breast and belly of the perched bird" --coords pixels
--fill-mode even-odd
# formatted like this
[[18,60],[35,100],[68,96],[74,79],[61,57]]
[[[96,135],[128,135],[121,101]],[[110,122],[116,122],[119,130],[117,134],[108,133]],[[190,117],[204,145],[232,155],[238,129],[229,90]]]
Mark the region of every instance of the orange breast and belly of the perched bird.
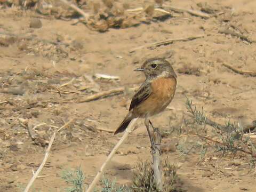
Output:
[[176,89],[176,79],[157,78],[151,82],[152,93],[133,110],[134,115],[145,117],[162,112],[172,101]]

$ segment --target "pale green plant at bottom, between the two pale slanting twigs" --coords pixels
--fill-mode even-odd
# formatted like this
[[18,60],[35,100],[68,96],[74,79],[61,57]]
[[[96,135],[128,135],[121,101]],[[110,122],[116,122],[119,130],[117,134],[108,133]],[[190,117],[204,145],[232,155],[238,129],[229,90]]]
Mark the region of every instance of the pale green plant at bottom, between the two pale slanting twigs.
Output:
[[83,192],[84,191],[84,173],[81,166],[77,170],[65,170],[61,174],[61,178],[64,179],[71,187],[66,188],[67,192]]

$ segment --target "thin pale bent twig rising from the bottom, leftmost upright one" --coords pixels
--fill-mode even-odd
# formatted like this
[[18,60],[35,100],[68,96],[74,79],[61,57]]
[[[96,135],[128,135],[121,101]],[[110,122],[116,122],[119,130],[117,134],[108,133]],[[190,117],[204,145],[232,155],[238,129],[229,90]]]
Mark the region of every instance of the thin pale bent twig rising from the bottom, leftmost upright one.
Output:
[[65,123],[63,126],[60,127],[60,129],[58,129],[57,131],[55,131],[51,137],[51,140],[49,142],[49,145],[45,151],[45,155],[44,155],[44,159],[41,163],[41,165],[38,167],[38,169],[36,170],[35,174],[33,174],[33,177],[30,179],[30,181],[28,182],[28,185],[26,187],[26,189],[24,190],[24,192],[28,192],[29,191],[29,188],[33,185],[34,181],[36,180],[36,178],[38,177],[38,174],[42,171],[46,161],[47,161],[47,158],[49,157],[50,155],[50,150],[51,150],[51,147],[52,147],[52,143],[55,139],[55,136],[56,136],[56,133],[59,132],[61,129],[63,129],[64,127],[66,127],[67,125],[69,125],[71,122],[73,122],[73,119],[71,119],[70,121],[68,121],[67,123]]

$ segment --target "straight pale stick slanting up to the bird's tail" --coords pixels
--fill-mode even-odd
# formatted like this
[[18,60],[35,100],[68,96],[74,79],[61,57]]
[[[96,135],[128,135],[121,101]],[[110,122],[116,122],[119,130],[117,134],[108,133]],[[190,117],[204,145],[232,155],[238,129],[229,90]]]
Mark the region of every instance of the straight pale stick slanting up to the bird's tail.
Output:
[[99,172],[97,173],[96,177],[93,179],[91,185],[89,186],[89,188],[86,190],[86,192],[91,192],[94,190],[97,182],[100,180],[103,172],[106,169],[106,166],[108,165],[108,163],[110,162],[111,158],[115,155],[117,149],[122,145],[122,143],[124,142],[124,140],[128,137],[129,133],[132,132],[134,125],[136,123],[138,118],[132,119],[131,123],[128,125],[128,127],[126,128],[125,133],[123,134],[123,137],[118,141],[118,143],[116,144],[116,146],[112,149],[111,153],[108,155],[106,161],[102,164]]

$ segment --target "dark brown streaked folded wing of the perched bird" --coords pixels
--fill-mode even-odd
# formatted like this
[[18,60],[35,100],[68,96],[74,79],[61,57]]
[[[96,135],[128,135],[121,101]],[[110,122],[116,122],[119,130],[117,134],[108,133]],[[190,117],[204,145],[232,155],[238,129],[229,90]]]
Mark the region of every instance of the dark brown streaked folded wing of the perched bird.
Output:
[[134,107],[138,106],[142,101],[147,99],[151,92],[152,89],[150,82],[144,82],[133,96],[129,111],[132,110]]

